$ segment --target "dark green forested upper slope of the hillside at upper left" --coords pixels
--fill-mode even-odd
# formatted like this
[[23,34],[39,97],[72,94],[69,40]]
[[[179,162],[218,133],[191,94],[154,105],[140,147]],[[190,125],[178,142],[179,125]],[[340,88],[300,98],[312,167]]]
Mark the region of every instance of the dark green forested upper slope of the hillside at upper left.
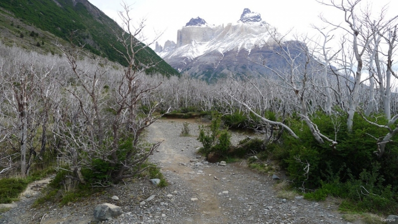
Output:
[[[111,46],[116,40],[112,28],[121,28],[115,27],[113,20],[88,0],[1,0],[0,10],[23,23],[51,32],[65,40],[69,40],[71,31],[77,30],[75,43],[84,43],[85,48],[92,53],[127,65]],[[119,43],[116,42],[114,46],[125,52]],[[149,47],[140,51],[137,59],[144,64],[158,62],[158,65],[147,70],[147,73],[160,72],[167,76],[178,74]]]

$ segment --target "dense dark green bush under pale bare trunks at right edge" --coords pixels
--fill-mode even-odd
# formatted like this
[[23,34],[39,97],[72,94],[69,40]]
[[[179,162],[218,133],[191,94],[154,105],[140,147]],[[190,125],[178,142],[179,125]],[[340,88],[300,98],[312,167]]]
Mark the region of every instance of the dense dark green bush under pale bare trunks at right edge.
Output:
[[[377,122],[385,122],[381,117]],[[345,199],[342,209],[384,214],[396,212],[398,137],[388,144],[384,157],[378,159],[373,153],[377,145],[370,135],[384,136],[386,131],[369,124],[360,115],[354,116],[352,132],[345,128],[345,116],[335,116],[332,120],[317,113],[312,120],[329,138],[336,134],[336,148],[328,143],[317,143],[302,121],[292,119],[290,126],[300,138],[285,134],[283,146],[289,150],[278,156],[285,161],[284,166],[295,186],[307,193],[305,198],[324,200],[327,196],[335,196]],[[376,122],[376,119],[372,121]],[[333,122],[341,123],[337,133]]]

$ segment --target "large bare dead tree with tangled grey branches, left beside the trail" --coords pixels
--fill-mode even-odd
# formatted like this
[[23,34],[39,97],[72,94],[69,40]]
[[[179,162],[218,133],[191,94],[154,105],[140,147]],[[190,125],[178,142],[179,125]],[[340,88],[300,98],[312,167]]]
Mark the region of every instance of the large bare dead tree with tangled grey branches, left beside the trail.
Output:
[[[66,144],[68,150],[65,155],[72,160],[74,178],[82,183],[86,180],[80,170],[82,167],[95,170],[93,161],[107,164],[106,175],[113,183],[143,172],[148,168],[145,165],[148,157],[161,143],[149,146],[141,137],[144,129],[161,117],[154,117],[153,113],[164,103],[162,98],[154,95],[161,82],[154,82],[145,75],[145,71],[156,66],[157,62],[151,59],[140,61],[137,56],[148,48],[142,43],[145,40],[142,36],[145,20],[134,26],[127,5],[119,16],[123,29],[113,26],[117,43],[112,44],[128,63],[127,67],[114,70],[106,60],[89,61],[90,56],[84,55],[81,47],[68,49],[60,46],[75,83],[64,85],[70,94],[65,98],[64,107],[72,110],[66,112],[66,116],[58,114],[63,126],[62,131],[56,134]],[[116,47],[120,44],[123,50]],[[65,130],[68,134],[63,134]]]

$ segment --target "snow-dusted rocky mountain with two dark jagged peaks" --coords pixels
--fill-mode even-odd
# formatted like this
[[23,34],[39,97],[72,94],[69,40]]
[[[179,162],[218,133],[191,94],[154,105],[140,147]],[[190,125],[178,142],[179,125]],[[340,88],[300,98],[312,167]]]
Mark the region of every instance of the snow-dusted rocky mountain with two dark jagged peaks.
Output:
[[267,47],[272,44],[268,31],[273,29],[248,8],[237,22],[226,25],[209,25],[197,17],[177,31],[177,43],[157,44],[155,52],[179,72],[209,81],[229,74],[264,75],[269,70],[248,57],[266,58],[270,67],[284,63]]

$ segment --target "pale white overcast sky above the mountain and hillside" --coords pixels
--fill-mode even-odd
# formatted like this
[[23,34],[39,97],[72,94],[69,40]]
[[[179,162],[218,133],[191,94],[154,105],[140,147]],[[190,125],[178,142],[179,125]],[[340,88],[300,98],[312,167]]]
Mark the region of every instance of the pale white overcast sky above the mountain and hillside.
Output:
[[[117,0],[89,0],[110,18],[119,22],[117,11],[122,10]],[[325,0],[328,1],[328,0]],[[340,0],[337,0],[340,1]],[[191,19],[201,17],[209,24],[227,24],[236,22],[244,8],[259,12],[261,18],[280,33],[293,28],[298,34],[316,32],[310,24],[321,26],[319,14],[341,22],[343,15],[333,7],[321,5],[316,0],[125,0],[132,7],[131,15],[135,21],[146,18],[144,34],[153,39],[156,33],[163,32],[158,40],[163,45],[166,40],[177,40],[177,30]],[[374,15],[389,4],[389,14],[398,13],[398,0],[363,0],[362,5],[372,5]],[[324,24],[323,24],[324,25]],[[154,48],[154,46],[151,46]]]

